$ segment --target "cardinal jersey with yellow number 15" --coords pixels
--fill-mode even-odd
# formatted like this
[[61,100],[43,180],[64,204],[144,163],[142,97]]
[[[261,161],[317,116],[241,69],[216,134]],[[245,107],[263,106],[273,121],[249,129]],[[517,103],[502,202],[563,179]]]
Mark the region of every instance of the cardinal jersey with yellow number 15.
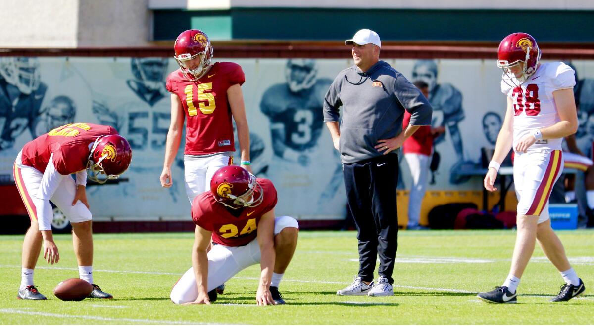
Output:
[[235,151],[229,87],[245,82],[241,66],[216,62],[199,81],[188,81],[180,69],[169,74],[167,90],[178,95],[186,122],[185,154]]

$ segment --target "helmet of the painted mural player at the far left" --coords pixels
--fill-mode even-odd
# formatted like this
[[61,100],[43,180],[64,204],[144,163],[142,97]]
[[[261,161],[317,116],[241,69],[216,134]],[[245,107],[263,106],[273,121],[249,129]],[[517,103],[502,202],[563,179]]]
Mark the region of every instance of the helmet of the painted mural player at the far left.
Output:
[[39,87],[39,60],[34,57],[0,57],[0,75],[23,94]]

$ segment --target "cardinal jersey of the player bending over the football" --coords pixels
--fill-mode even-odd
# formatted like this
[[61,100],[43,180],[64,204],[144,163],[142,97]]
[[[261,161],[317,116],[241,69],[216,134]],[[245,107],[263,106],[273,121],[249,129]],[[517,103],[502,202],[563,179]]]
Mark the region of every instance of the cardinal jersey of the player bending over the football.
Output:
[[53,154],[53,165],[62,175],[76,173],[87,168],[90,148],[97,137],[117,135],[109,126],[91,123],[73,123],[58,127],[26,143],[21,161],[23,165],[45,172],[49,157]]

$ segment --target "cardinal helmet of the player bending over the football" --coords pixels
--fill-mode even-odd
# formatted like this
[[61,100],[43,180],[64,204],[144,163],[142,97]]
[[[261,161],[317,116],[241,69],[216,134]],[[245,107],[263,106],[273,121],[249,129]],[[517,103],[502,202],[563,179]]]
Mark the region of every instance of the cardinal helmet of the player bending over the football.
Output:
[[[120,135],[97,137],[89,154],[89,179],[97,183],[114,180],[127,170],[132,161],[132,149],[128,140]],[[101,174],[105,177],[99,177]]]

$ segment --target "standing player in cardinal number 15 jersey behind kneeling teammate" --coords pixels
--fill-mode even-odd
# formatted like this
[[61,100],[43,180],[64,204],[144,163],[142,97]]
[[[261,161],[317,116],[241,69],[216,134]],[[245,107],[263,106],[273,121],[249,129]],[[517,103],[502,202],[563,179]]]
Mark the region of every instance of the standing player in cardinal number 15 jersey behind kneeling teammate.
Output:
[[179,149],[184,120],[185,187],[188,199],[203,193],[214,172],[233,162],[233,125],[237,127],[241,165],[251,172],[249,128],[241,85],[245,75],[236,63],[212,62],[213,47],[200,30],[187,30],[175,40],[179,69],[167,78],[171,92],[171,123],[167,134],[161,185],[173,184],[171,165]]

